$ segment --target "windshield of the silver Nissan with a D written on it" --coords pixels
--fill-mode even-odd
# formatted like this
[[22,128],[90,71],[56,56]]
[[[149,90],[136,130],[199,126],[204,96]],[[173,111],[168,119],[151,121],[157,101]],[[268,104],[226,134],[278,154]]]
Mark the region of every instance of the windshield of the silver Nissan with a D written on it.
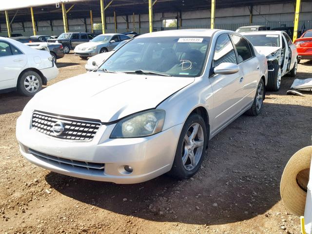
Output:
[[136,38],[117,50],[99,69],[197,77],[203,70],[209,42],[210,37]]

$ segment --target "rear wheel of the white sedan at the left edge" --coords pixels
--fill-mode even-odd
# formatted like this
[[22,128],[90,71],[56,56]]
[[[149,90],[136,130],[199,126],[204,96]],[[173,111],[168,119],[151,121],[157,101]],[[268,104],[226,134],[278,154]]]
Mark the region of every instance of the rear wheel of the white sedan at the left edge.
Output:
[[24,72],[18,81],[17,88],[21,95],[32,97],[42,89],[42,79],[37,72]]

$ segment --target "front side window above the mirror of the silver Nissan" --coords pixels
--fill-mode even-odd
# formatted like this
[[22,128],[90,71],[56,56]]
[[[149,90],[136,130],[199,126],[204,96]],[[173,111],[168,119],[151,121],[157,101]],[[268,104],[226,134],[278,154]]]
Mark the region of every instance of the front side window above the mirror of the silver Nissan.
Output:
[[227,34],[220,35],[215,42],[215,53],[212,67],[216,67],[223,62],[237,63],[232,41]]

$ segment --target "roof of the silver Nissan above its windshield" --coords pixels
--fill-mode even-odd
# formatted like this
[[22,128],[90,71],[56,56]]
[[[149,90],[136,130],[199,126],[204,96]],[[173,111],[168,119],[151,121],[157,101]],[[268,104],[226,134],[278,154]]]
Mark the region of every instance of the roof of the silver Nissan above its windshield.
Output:
[[[150,37],[211,37],[215,32],[220,29],[178,29],[166,30],[153,33],[146,33],[138,36],[137,38],[150,38]],[[226,32],[232,32],[223,30]]]

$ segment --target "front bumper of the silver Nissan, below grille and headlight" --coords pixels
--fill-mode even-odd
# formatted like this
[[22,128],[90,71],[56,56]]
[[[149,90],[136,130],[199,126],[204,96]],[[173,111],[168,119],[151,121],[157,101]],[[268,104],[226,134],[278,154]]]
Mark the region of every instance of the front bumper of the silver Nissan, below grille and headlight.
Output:
[[[25,121],[27,120],[27,121]],[[140,183],[160,176],[172,167],[182,124],[150,137],[109,138],[115,124],[102,125],[89,142],[48,137],[29,128],[29,118],[19,117],[16,136],[21,154],[30,162],[53,172],[84,179],[120,184]],[[104,163],[103,170],[89,170],[56,163],[34,155],[31,150],[73,161]],[[133,167],[132,173],[124,165]]]

